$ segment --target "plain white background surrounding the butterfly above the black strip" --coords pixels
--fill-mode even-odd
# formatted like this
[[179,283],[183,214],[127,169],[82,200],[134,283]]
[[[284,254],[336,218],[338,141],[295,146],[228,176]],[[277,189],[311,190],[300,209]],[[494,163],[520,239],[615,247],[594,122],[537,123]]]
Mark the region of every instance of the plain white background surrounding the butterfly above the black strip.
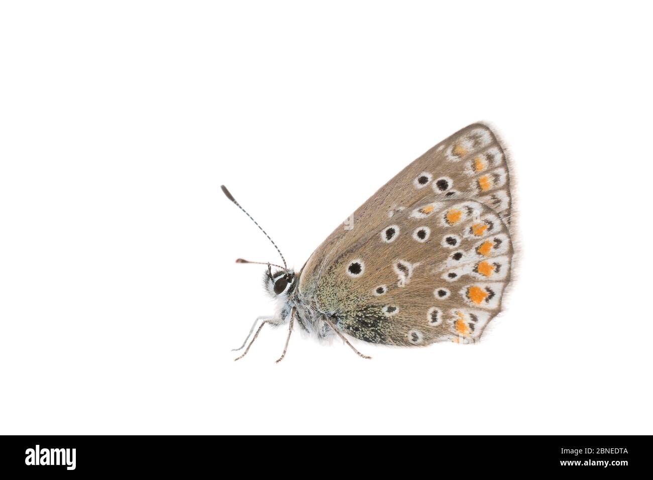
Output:
[[[3,434],[651,434],[645,3],[6,2]],[[512,152],[522,260],[474,346],[264,330],[299,268],[454,131]]]

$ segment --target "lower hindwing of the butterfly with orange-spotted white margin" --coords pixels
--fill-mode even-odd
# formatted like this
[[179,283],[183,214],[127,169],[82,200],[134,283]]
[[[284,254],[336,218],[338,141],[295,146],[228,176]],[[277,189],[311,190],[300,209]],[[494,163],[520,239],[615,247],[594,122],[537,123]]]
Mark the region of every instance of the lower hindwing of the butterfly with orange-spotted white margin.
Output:
[[343,251],[318,281],[317,304],[343,332],[392,345],[467,340],[500,311],[512,255],[505,223],[473,200],[442,200],[415,217],[425,205]]

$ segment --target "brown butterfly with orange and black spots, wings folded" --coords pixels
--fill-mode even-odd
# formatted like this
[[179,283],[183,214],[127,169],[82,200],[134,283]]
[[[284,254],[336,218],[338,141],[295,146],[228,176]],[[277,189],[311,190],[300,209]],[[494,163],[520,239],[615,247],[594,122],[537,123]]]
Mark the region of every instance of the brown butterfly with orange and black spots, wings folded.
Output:
[[295,323],[319,338],[339,336],[366,359],[347,337],[405,346],[475,342],[501,311],[511,278],[511,210],[505,150],[487,125],[475,123],[383,185],[298,272],[266,234],[283,260],[283,266],[267,263],[263,276],[278,307],[274,316],[255,321],[235,350],[261,324],[236,360],[265,325],[285,323],[277,362]]

